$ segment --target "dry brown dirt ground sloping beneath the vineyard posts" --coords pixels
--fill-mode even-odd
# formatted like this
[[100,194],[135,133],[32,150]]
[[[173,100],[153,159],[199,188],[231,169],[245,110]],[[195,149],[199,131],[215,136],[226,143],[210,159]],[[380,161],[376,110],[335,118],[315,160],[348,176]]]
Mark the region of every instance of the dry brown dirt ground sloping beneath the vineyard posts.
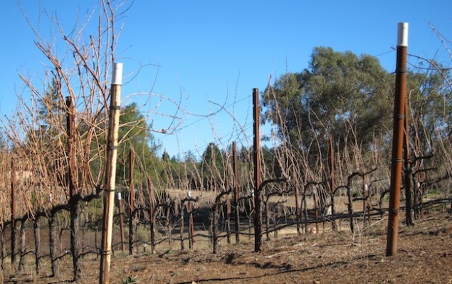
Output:
[[[222,240],[216,255],[202,243],[192,251],[157,247],[156,254],[115,253],[110,283],[452,283],[451,216],[431,214],[412,228],[401,223],[392,257],[385,256],[386,229],[383,219],[354,234],[280,234],[264,241],[260,253],[253,252],[253,240],[246,236],[238,245]],[[98,283],[99,265],[100,258],[85,257],[78,283]],[[71,268],[70,258],[64,258],[61,275],[51,278],[48,271],[33,273],[33,262],[22,272],[3,270],[1,282],[67,283]]]

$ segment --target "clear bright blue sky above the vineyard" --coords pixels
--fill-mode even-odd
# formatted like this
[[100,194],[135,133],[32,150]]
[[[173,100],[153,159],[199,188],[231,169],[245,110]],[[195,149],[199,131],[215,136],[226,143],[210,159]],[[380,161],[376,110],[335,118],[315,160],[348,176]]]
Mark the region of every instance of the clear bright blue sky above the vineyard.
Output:
[[[69,29],[95,3],[21,1],[32,23],[41,20],[41,30],[50,27],[46,12],[56,11]],[[177,113],[182,118],[177,130],[154,134],[170,156],[183,158],[188,150],[201,155],[209,142],[222,149],[233,140],[250,146],[253,88],[266,88],[270,75],[273,82],[285,72],[308,68],[316,46],[377,56],[392,72],[401,21],[409,22],[409,53],[451,66],[452,58],[429,26],[452,41],[450,0],[135,0],[117,21],[123,26],[116,56],[127,76],[122,97],[124,103],[144,102],[146,96],[132,94],[152,92],[180,100],[186,112]],[[17,105],[16,93],[23,90],[18,74],[42,77],[44,68],[16,1],[0,2],[0,24],[0,110],[9,116]],[[134,77],[140,64],[150,63],[159,67],[148,65]],[[174,115],[174,107],[162,104],[153,110],[156,104],[152,99],[147,105],[149,122],[155,130],[172,127],[168,115]],[[225,110],[219,111],[219,105]],[[215,114],[198,116],[209,113]]]

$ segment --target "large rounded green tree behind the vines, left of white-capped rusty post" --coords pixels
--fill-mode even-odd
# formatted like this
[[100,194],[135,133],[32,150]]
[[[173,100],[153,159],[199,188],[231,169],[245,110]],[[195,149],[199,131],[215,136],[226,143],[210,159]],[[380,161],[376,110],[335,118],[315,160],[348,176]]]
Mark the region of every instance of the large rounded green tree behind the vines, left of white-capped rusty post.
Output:
[[325,154],[330,137],[342,147],[369,150],[375,133],[391,122],[389,78],[377,58],[314,48],[309,69],[284,74],[266,88],[263,122],[273,122],[280,139],[300,150],[312,151],[315,140],[316,151]]

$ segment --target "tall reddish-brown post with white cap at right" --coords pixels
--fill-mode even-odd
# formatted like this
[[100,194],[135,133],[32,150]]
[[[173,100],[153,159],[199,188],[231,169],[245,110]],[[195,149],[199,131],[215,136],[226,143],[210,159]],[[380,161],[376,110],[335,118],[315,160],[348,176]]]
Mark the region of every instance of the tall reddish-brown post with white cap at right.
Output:
[[402,149],[404,144],[408,23],[399,23],[397,36],[396,88],[394,97],[394,130],[392,136],[391,186],[389,189],[387,256],[394,256],[396,253],[397,236],[399,233],[401,169],[404,162]]

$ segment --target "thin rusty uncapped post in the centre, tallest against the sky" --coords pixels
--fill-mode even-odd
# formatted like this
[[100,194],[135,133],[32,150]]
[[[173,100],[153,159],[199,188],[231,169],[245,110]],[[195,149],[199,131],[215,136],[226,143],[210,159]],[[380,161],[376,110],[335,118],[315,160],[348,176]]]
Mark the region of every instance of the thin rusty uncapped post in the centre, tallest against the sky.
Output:
[[254,251],[261,251],[262,213],[261,213],[261,110],[259,108],[259,89],[253,89],[253,161],[254,161]]

